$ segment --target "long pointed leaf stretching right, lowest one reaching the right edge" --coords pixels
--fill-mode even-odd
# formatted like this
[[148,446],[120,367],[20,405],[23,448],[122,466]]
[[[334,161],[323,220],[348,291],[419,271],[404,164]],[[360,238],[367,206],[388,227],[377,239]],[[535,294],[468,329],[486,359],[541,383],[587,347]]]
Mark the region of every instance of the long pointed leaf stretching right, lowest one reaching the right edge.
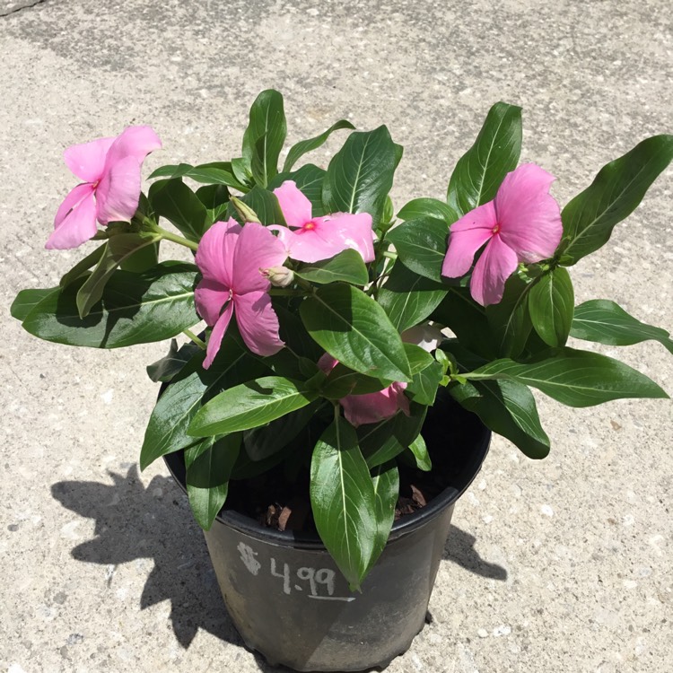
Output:
[[568,406],[593,406],[620,398],[669,397],[653,380],[624,363],[567,347],[538,362],[495,360],[465,376],[469,380],[516,380]]

